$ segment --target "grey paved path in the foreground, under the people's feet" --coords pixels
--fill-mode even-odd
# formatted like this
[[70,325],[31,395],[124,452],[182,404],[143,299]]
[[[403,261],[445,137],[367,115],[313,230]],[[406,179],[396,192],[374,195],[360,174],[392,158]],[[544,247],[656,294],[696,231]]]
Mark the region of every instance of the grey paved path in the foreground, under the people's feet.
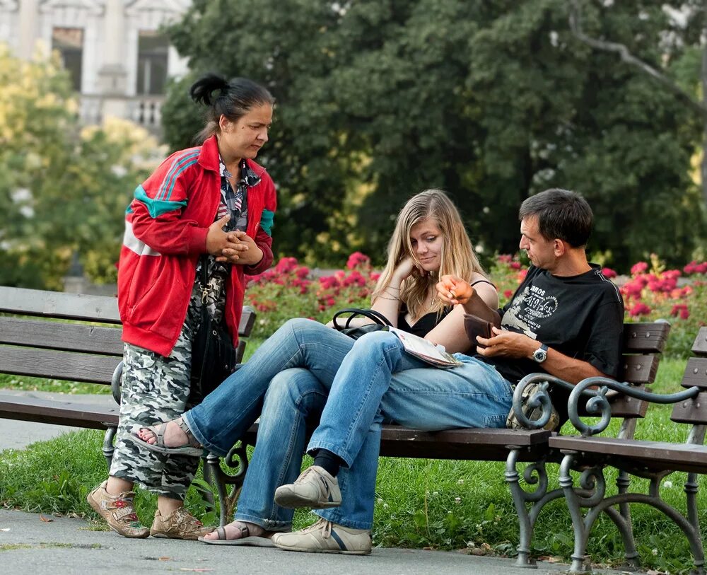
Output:
[[[52,521],[42,521],[42,517]],[[539,563],[527,571],[513,559],[458,552],[374,549],[366,557],[296,553],[261,547],[220,547],[194,541],[131,540],[88,530],[81,519],[0,511],[4,573],[115,575],[213,573],[228,575],[508,575],[557,574],[564,564]],[[598,570],[596,574],[621,574]]]

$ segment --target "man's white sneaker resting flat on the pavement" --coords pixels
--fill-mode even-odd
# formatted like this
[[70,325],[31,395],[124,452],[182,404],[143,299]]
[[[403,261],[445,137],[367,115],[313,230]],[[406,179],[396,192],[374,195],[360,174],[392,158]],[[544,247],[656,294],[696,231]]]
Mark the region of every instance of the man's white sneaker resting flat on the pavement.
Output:
[[368,555],[371,548],[368,530],[351,529],[323,518],[299,531],[275,533],[272,542],[279,549],[308,553]]

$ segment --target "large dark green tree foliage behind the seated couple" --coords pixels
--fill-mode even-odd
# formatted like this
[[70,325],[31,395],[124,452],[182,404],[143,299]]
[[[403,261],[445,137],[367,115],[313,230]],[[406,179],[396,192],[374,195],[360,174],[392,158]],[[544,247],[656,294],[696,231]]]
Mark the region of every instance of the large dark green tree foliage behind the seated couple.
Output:
[[[682,4],[585,0],[583,25],[695,91],[699,18],[679,26],[665,9]],[[380,261],[399,207],[426,187],[450,192],[486,252],[510,252],[522,199],[557,186],[590,200],[590,250],[607,261],[685,261],[705,236],[689,176],[701,119],[580,42],[568,17],[564,0],[197,0],[169,33],[194,74],[274,93],[260,160],[279,187],[281,252]],[[201,125],[190,80],[165,106],[174,148]]]

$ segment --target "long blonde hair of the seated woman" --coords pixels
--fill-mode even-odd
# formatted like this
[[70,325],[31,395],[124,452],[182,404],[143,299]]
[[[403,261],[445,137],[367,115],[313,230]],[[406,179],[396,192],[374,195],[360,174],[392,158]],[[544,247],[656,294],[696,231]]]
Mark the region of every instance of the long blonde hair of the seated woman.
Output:
[[[395,230],[388,242],[387,264],[373,290],[373,301],[390,284],[395,268],[405,257],[411,257],[420,265],[412,248],[410,231],[416,223],[426,219],[434,221],[442,232],[441,263],[437,272],[411,275],[402,282],[399,298],[413,318],[419,318],[429,291],[441,275],[453,274],[466,281],[471,280],[474,272],[486,277],[455,205],[442,190],[425,190],[411,197],[397,216]],[[431,311],[441,313],[443,309],[444,304],[435,298]]]

